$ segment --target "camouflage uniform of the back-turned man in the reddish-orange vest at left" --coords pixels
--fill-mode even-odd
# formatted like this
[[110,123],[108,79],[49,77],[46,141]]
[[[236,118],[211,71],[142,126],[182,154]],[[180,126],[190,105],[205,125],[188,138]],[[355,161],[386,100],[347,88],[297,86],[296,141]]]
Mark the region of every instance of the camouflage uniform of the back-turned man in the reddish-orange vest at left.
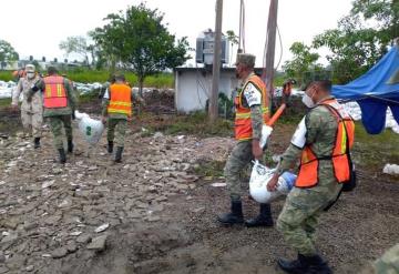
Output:
[[[71,82],[69,79],[64,78],[64,87],[68,97],[68,105],[65,108],[58,109],[47,109],[44,108],[43,116],[47,119],[50,125],[50,130],[54,136],[54,146],[60,150],[63,149],[63,134],[62,134],[62,125],[65,129],[66,140],[72,142],[72,112],[74,112],[76,98],[73,92]],[[38,83],[38,88],[44,91],[44,81],[40,81]],[[37,92],[38,93],[38,92]]]

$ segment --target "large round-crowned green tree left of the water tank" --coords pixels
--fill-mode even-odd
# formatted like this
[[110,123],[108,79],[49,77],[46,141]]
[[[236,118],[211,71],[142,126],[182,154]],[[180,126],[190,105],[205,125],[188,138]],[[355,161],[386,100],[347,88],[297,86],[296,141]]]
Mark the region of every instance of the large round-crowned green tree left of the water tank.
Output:
[[186,38],[176,40],[163,24],[163,14],[157,9],[141,3],[104,20],[108,23],[96,28],[92,37],[103,54],[137,74],[140,92],[145,77],[182,65],[190,59]]

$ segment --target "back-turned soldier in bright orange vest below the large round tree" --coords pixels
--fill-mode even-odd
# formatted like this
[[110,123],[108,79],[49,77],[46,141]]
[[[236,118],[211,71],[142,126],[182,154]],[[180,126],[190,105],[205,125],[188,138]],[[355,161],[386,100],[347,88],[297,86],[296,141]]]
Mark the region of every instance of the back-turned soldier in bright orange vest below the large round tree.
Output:
[[132,101],[136,100],[144,104],[144,100],[132,92],[123,74],[115,75],[114,80],[115,82],[106,89],[103,97],[102,121],[104,124],[108,121],[108,152],[113,152],[115,140],[116,153],[114,160],[120,163],[122,161],[127,120],[132,115]]

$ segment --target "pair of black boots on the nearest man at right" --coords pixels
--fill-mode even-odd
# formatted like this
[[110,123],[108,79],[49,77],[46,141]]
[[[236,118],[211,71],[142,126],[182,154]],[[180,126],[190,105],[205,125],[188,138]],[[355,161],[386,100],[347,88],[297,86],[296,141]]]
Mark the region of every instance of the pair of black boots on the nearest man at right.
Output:
[[319,255],[305,256],[298,254],[297,260],[287,261],[279,258],[277,264],[283,271],[293,274],[332,274],[327,262]]

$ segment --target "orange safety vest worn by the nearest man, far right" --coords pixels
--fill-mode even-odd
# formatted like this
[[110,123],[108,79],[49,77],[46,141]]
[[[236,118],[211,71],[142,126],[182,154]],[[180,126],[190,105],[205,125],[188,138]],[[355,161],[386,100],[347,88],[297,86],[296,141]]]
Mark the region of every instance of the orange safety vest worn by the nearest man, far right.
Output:
[[313,187],[318,183],[318,165],[320,160],[332,161],[334,174],[338,183],[345,183],[350,177],[351,171],[348,153],[355,140],[354,120],[342,111],[342,106],[335,99],[326,100],[320,105],[325,105],[337,119],[338,128],[332,154],[317,158],[311,151],[311,144],[306,145],[300,158],[299,173],[295,182],[296,187]]

